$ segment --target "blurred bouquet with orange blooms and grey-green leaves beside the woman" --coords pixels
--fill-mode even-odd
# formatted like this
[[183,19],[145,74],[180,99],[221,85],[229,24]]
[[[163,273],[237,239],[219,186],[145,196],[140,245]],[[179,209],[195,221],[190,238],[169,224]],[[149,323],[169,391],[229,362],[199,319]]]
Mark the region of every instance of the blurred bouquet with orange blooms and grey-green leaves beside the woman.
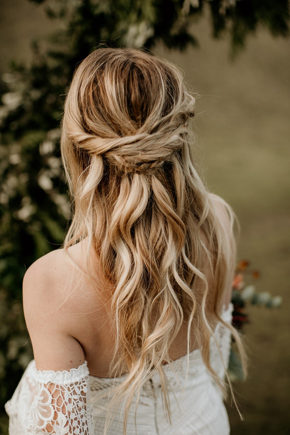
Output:
[[[233,280],[232,304],[233,304],[233,327],[240,333],[245,332],[245,325],[250,323],[247,307],[249,305],[265,306],[267,308],[279,308],[282,303],[281,296],[272,297],[269,292],[256,292],[253,281],[260,278],[260,272],[250,268],[250,261],[241,260],[236,266],[236,274]],[[250,281],[247,284],[246,281]],[[232,347],[229,356],[228,374],[231,381],[243,381],[242,364],[239,353],[235,348],[235,340],[232,337]]]

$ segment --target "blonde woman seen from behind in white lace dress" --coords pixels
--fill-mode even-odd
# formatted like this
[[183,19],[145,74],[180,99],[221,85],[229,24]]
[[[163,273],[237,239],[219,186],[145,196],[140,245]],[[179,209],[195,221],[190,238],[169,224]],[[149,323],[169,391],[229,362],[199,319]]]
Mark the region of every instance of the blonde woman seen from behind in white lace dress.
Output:
[[142,51],[76,70],[61,137],[74,218],[24,277],[34,361],[10,434],[229,433],[233,213],[196,172],[193,106],[179,70]]

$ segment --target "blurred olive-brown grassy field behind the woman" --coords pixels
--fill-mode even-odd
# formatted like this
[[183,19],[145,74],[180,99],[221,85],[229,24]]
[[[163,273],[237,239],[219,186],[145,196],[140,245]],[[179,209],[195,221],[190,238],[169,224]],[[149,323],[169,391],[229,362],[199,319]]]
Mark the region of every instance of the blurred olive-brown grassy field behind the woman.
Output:
[[[31,60],[32,39],[44,37],[60,25],[47,18],[42,6],[24,0],[1,0],[0,7],[0,71],[4,74],[11,60]],[[199,47],[179,51],[159,43],[152,51],[182,68],[185,80],[199,94],[195,120],[197,154],[202,154],[207,185],[232,205],[239,218],[238,258],[250,259],[261,272],[256,283],[259,291],[283,297],[279,310],[249,308],[249,378],[234,385],[245,421],[241,422],[234,406],[228,405],[231,434],[287,435],[290,40],[274,38],[259,28],[233,59],[229,38],[212,38],[207,11],[192,26]],[[25,252],[23,264],[26,268],[30,265]],[[6,315],[3,306],[2,316]],[[13,309],[17,315],[21,307],[16,304]],[[25,331],[24,325],[15,327]],[[15,345],[25,345],[21,336]],[[15,376],[20,376],[20,371]],[[6,421],[5,417],[0,420],[3,434]]]

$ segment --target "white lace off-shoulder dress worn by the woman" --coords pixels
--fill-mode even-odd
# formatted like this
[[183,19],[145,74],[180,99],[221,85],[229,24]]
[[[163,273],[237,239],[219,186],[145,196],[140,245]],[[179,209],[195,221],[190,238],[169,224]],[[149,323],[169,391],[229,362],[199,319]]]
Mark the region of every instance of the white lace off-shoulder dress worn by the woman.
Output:
[[[230,323],[233,305],[223,311],[222,318]],[[219,323],[215,329],[223,361],[227,366],[230,332]],[[210,361],[220,378],[224,377],[223,362],[213,337]],[[134,405],[129,414],[128,435],[228,435],[229,421],[223,397],[202,361],[199,349],[164,366],[169,381],[171,424],[162,408],[160,377],[153,373],[142,389],[137,412]],[[113,385],[124,380],[96,378],[87,363],[70,371],[40,371],[30,362],[13,397],[6,403],[9,435],[97,435],[104,433],[109,393]],[[184,388],[185,387],[185,388]],[[108,435],[123,433],[123,415],[115,413]]]

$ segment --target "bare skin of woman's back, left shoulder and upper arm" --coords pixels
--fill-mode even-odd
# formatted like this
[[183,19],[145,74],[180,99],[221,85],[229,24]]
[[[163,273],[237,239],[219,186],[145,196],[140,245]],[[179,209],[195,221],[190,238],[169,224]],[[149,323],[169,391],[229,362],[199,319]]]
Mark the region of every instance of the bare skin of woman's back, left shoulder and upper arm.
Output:
[[[222,200],[215,197],[215,204],[217,218],[229,229],[229,219]],[[47,366],[52,370],[65,370],[69,365],[77,368],[86,360],[91,375],[107,378],[121,374],[110,373],[116,340],[114,317],[110,308],[111,286],[102,276],[98,257],[94,253],[91,254],[91,262],[94,263],[97,278],[92,284],[85,272],[86,253],[86,240],[69,248],[68,254],[78,269],[67,261],[63,249],[52,251],[30,266],[24,278],[24,313],[39,370]],[[205,259],[203,269],[206,271],[208,268]],[[209,270],[206,275],[210,304],[212,294]],[[225,308],[228,307],[230,294],[231,281],[224,294]],[[33,304],[31,301],[34,301]],[[38,318],[41,320],[38,321]],[[208,320],[214,329],[215,319]],[[40,325],[44,327],[44,335],[40,334]],[[49,328],[47,325],[50,325]],[[49,340],[59,343],[55,355],[49,350]],[[198,347],[194,328],[191,341],[190,351]],[[59,365],[60,352],[63,354],[63,366]],[[169,356],[170,360],[175,360],[186,354],[187,323],[183,322]]]

